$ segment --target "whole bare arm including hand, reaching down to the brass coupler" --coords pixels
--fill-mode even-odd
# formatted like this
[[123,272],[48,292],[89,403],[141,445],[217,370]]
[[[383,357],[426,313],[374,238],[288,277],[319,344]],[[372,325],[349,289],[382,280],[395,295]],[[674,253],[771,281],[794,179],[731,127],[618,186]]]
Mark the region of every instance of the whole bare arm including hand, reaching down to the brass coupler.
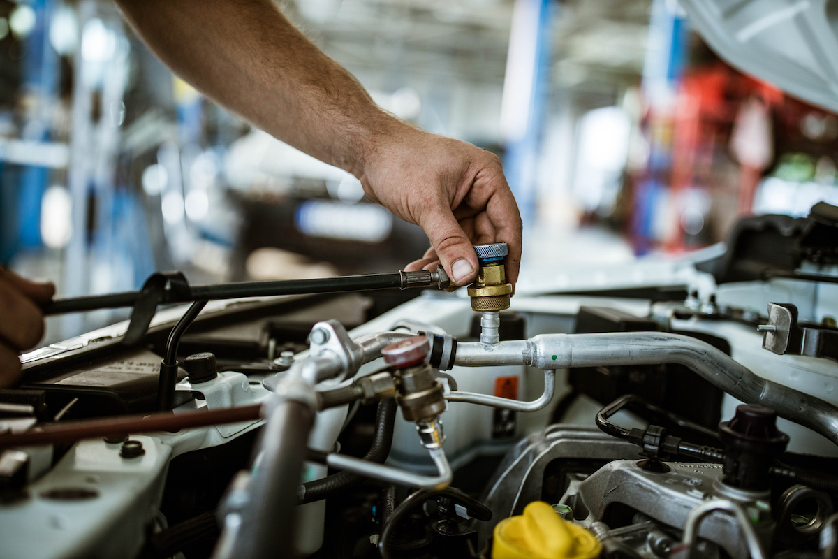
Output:
[[521,220],[494,155],[381,111],[271,0],[116,2],[163,62],[204,95],[353,173],[370,199],[421,225],[432,249],[410,267],[442,262],[465,285],[477,270],[473,243],[504,241],[515,283]]

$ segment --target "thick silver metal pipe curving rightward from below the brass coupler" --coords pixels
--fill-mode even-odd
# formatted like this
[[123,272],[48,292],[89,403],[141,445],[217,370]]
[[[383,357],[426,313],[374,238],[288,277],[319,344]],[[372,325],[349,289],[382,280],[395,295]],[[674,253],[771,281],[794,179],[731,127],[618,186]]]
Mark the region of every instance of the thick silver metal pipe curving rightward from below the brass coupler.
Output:
[[494,346],[463,343],[457,345],[454,363],[531,365],[539,369],[677,363],[737,399],[768,406],[780,417],[809,427],[838,444],[838,407],[754,375],[720,349],[681,334],[542,334]]

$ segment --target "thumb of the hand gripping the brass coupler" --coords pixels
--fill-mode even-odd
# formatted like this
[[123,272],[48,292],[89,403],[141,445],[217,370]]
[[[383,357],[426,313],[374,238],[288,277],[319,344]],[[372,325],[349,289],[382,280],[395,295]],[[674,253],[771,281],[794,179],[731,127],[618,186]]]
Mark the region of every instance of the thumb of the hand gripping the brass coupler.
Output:
[[477,275],[477,253],[451,210],[442,207],[419,225],[425,230],[451,281],[460,286],[472,282]]

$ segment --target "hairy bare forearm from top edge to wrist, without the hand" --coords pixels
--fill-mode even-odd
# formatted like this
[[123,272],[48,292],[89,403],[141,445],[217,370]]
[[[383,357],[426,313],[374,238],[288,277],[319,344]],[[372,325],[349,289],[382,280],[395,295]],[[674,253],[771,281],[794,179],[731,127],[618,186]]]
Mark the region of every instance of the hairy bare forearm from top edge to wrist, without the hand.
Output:
[[127,20],[196,89],[314,157],[360,176],[395,118],[270,0],[117,0]]

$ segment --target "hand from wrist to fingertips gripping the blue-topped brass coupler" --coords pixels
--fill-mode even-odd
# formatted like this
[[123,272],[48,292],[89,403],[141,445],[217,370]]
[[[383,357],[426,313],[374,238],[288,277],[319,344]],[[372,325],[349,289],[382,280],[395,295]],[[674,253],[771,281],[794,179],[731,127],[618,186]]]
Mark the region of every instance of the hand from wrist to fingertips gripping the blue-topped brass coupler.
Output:
[[407,271],[442,263],[453,284],[467,285],[478,269],[473,245],[505,242],[506,277],[515,285],[522,225],[499,158],[402,122],[377,134],[366,153],[360,181],[367,197],[421,226],[431,241]]

